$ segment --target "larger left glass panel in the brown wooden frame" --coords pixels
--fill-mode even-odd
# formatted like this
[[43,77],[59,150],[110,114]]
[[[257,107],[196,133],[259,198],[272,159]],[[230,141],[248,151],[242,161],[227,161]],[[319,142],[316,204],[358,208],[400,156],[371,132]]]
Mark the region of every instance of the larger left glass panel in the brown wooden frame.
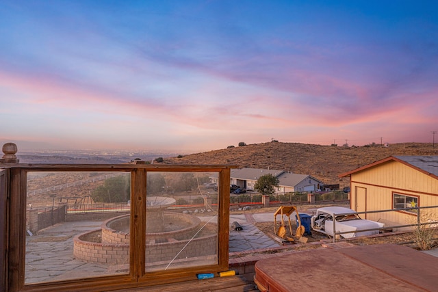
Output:
[[25,284],[129,273],[129,172],[28,172]]

